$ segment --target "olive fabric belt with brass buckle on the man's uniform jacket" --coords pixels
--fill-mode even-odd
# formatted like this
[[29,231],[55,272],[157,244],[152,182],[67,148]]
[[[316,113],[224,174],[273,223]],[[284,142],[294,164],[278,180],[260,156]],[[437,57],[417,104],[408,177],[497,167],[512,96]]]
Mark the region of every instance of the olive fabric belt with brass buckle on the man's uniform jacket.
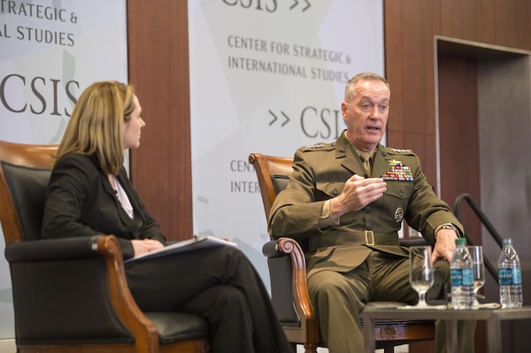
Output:
[[310,238],[311,249],[327,248],[331,246],[356,245],[400,245],[396,234],[376,233],[372,230],[342,232],[339,234],[320,234]]

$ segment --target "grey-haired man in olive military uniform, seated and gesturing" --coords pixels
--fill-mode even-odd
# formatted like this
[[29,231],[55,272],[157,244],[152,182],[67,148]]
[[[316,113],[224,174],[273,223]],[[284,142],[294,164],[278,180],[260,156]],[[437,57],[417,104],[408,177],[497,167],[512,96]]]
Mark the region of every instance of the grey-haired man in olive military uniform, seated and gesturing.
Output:
[[[450,280],[448,261],[463,226],[438,198],[412,150],[381,145],[389,114],[388,82],[360,73],[345,88],[347,125],[334,143],[296,150],[289,185],[268,222],[274,238],[309,238],[308,289],[330,352],[361,351],[358,314],[369,301],[415,303],[409,252],[399,246],[405,219],[434,245],[432,262]],[[443,261],[439,261],[439,260]],[[471,323],[473,324],[473,323]],[[473,352],[473,325],[459,328],[461,351]],[[444,325],[437,327],[437,336]],[[437,349],[444,349],[444,340]]]

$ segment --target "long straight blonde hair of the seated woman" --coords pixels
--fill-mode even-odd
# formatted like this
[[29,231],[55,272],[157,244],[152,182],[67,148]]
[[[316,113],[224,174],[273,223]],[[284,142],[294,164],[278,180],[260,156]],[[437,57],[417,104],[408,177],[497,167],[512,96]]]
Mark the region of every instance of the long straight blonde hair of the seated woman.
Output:
[[135,109],[135,89],[118,81],[95,82],[81,93],[57,158],[96,156],[104,173],[116,175],[124,163],[124,121]]

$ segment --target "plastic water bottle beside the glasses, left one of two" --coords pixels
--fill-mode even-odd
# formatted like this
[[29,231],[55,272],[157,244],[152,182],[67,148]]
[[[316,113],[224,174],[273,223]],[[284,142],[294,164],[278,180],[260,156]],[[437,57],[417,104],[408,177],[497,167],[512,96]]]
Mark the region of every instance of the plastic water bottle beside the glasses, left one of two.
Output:
[[456,239],[456,250],[450,261],[451,306],[455,310],[473,309],[473,263],[466,239]]

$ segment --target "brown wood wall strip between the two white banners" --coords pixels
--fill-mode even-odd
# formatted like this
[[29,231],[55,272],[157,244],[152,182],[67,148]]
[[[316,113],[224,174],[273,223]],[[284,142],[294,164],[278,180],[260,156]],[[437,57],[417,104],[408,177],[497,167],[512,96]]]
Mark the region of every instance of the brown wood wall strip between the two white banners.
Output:
[[131,180],[170,240],[193,231],[186,1],[128,0],[129,82],[142,105]]

